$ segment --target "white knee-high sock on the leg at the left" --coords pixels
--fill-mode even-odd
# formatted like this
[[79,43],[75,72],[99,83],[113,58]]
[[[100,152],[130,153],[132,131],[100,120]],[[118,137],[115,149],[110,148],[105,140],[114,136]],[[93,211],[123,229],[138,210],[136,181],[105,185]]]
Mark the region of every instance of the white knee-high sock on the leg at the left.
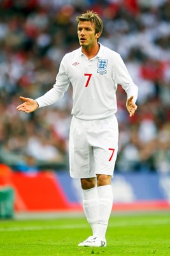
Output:
[[98,220],[98,194],[96,187],[83,189],[83,209],[94,235],[96,233]]

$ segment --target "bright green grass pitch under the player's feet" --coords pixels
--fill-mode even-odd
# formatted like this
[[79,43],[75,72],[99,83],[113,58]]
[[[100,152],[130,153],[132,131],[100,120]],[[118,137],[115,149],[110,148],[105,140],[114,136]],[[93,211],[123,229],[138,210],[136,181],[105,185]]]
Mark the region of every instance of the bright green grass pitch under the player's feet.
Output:
[[0,221],[0,255],[170,255],[169,212],[111,216],[107,247],[78,247],[90,233],[87,221],[80,217]]

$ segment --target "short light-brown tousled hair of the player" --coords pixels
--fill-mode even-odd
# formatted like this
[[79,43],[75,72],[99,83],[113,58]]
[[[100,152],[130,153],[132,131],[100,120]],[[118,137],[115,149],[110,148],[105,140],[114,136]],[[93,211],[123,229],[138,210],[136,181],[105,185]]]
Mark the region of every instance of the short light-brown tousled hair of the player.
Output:
[[90,21],[95,24],[95,33],[102,33],[103,31],[103,21],[99,17],[99,15],[96,12],[93,11],[87,11],[85,13],[82,13],[81,15],[76,17],[76,20],[78,22],[80,21]]

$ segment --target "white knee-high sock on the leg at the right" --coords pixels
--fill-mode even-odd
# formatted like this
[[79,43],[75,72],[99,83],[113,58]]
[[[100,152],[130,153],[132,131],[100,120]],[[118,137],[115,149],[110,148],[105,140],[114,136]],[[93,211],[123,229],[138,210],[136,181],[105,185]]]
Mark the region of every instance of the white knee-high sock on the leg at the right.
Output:
[[108,221],[113,206],[113,191],[111,185],[100,186],[97,188],[99,197],[99,214],[96,236],[104,239],[108,227]]

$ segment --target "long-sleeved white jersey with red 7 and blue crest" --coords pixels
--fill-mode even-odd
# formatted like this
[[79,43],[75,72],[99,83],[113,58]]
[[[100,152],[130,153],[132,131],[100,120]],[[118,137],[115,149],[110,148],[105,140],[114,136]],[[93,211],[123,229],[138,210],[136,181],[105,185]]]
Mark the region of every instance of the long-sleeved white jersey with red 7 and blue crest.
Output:
[[67,53],[60,63],[53,88],[36,99],[39,108],[61,99],[73,86],[72,115],[84,120],[106,118],[117,112],[117,85],[136,102],[138,86],[132,81],[124,61],[115,51],[100,44],[97,55],[88,59],[81,47]]

